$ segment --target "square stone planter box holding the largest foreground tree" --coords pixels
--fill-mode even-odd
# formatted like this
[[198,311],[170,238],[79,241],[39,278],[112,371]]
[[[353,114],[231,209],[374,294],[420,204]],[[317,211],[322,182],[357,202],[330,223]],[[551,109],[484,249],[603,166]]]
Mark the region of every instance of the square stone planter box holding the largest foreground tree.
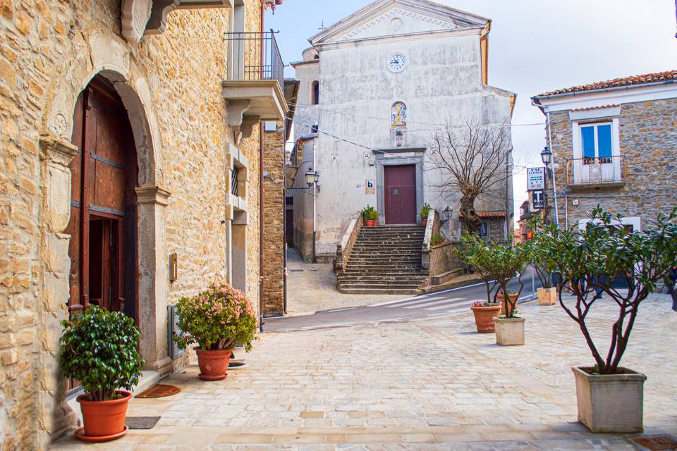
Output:
[[590,367],[574,366],[578,421],[590,432],[644,431],[644,381],[647,376],[619,368],[623,374],[590,374]]

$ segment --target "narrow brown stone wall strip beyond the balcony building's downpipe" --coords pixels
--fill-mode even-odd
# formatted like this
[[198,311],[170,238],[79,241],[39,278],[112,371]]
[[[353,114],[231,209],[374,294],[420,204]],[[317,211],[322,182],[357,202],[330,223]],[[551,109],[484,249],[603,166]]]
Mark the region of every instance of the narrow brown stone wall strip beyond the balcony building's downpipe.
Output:
[[284,127],[263,137],[263,316],[284,314]]

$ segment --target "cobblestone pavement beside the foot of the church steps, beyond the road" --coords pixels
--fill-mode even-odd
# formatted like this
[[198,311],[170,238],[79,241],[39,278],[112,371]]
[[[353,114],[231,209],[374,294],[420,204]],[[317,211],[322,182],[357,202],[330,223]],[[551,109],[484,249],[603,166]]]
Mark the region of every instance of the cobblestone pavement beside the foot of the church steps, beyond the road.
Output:
[[336,290],[336,273],[331,264],[305,263],[294,249],[287,251],[287,271],[287,313],[292,316],[411,297],[340,293]]

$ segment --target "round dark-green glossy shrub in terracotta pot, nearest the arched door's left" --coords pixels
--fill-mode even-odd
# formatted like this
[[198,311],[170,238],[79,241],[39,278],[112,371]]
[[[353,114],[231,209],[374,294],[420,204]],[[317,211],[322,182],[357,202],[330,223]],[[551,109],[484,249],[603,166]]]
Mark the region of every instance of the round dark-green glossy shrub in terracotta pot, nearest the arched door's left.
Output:
[[63,376],[80,381],[85,393],[78,396],[84,427],[75,431],[80,440],[103,442],[127,431],[125,418],[133,385],[144,365],[138,351],[139,329],[119,311],[92,305],[71,321],[59,340],[59,366]]

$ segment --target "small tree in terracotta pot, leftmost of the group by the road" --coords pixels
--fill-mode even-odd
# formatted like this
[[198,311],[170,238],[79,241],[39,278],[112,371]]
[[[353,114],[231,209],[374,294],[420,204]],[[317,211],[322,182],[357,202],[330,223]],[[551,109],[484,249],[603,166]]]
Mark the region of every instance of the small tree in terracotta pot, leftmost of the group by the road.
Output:
[[489,259],[489,245],[477,234],[466,233],[461,237],[461,246],[455,249],[456,255],[470,267],[470,270],[477,273],[484,281],[487,288],[487,300],[477,300],[470,309],[475,316],[475,327],[478,333],[494,333],[494,317],[499,316],[501,311],[500,304],[492,299],[492,276],[486,272],[487,259]]

